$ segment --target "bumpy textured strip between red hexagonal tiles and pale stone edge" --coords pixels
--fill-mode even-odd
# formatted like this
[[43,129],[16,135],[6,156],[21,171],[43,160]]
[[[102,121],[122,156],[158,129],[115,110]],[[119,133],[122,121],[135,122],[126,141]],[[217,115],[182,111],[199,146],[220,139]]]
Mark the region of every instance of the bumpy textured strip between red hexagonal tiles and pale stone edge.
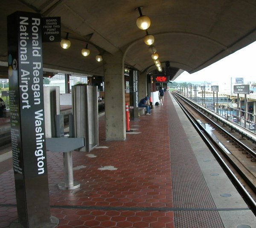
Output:
[[[167,101],[173,206],[216,208],[174,103],[172,99]],[[177,210],[174,212],[174,222],[175,227],[223,227],[218,211]]]

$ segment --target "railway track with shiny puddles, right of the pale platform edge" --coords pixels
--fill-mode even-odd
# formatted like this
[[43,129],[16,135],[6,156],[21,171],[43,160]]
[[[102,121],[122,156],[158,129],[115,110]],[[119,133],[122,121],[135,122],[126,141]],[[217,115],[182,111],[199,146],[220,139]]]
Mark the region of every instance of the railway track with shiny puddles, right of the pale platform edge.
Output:
[[[256,153],[254,137],[235,131],[227,120],[221,121],[199,104],[173,92],[189,120],[227,173],[249,208],[256,215]],[[248,135],[248,137],[247,137]]]

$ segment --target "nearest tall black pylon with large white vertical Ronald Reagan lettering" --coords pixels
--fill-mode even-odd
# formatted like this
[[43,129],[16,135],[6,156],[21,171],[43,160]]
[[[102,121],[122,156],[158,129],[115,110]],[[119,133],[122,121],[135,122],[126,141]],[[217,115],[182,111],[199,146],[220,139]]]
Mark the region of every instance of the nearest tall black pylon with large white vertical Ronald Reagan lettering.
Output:
[[8,74],[12,157],[18,223],[50,226],[44,127],[41,14],[8,16]]

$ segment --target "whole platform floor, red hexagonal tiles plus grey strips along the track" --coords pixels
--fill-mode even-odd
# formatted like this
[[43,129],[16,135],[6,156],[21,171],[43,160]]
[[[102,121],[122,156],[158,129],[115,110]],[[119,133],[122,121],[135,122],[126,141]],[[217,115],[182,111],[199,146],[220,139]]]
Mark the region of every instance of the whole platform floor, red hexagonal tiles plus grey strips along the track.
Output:
[[[59,190],[61,153],[47,152],[50,210],[58,228],[255,228],[244,203],[180,107],[166,92],[152,115],[130,121],[125,141],[73,152],[76,190]],[[12,158],[0,155],[0,228],[17,219]]]

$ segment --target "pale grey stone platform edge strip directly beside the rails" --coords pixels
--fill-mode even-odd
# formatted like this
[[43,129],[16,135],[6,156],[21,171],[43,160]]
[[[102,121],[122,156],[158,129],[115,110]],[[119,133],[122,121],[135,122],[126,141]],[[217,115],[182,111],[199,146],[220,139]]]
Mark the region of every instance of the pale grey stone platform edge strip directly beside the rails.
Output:
[[[225,228],[234,228],[238,225],[249,225],[251,228],[256,227],[256,217],[250,211],[230,181],[224,170],[218,164],[209,148],[198,135],[191,122],[181,110],[175,99],[172,97],[172,102],[175,105],[176,112],[179,115],[180,122],[185,130],[186,136],[189,139],[192,150],[195,153],[198,165],[201,168],[207,187],[212,195],[212,199],[217,208],[232,208],[232,211],[219,211],[221,220]],[[211,174],[217,173],[218,176]],[[221,194],[231,194],[230,197],[222,197]],[[234,208],[244,208],[244,211],[233,210]]]

